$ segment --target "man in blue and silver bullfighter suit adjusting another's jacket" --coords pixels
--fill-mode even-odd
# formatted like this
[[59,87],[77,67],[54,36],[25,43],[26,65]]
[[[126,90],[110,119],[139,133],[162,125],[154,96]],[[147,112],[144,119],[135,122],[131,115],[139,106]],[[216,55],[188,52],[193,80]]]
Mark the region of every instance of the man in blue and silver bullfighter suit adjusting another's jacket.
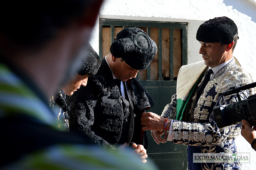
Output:
[[[213,114],[214,106],[238,101],[237,95],[224,97],[223,92],[253,82],[250,74],[233,57],[237,35],[236,24],[228,17],[205,21],[196,34],[204,61],[180,68],[177,92],[161,116],[152,112],[142,114],[141,125],[147,125],[142,129],[151,130],[156,143],[172,141],[188,145],[188,170],[241,169],[239,162],[193,162],[193,153],[237,153],[234,139],[240,134],[241,123],[218,128]],[[209,80],[199,92],[206,72],[211,72]],[[252,94],[254,89],[244,91],[245,96]],[[163,131],[164,128],[169,132]],[[165,139],[161,137],[164,133]]]

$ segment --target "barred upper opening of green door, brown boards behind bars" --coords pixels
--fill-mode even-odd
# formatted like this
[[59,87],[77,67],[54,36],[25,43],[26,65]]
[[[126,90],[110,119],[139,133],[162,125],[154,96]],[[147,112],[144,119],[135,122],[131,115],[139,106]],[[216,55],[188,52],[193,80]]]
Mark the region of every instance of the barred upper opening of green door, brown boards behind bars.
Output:
[[156,42],[157,53],[146,70],[140,70],[140,81],[175,81],[179,69],[187,64],[187,23],[99,19],[101,58],[109,53],[116,34],[127,27],[138,27]]

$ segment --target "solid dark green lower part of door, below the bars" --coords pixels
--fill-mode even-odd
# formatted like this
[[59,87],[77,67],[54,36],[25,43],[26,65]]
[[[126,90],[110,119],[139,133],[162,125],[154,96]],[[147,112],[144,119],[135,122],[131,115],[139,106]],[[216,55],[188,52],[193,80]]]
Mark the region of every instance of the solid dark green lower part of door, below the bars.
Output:
[[[172,94],[176,93],[176,81],[140,81],[143,87],[153,97],[155,105],[147,112],[154,112],[161,115],[164,106],[171,102]],[[187,169],[187,146],[173,144],[171,141],[160,143],[159,145],[151,136],[150,130],[148,135],[148,159],[152,160],[160,170]]]

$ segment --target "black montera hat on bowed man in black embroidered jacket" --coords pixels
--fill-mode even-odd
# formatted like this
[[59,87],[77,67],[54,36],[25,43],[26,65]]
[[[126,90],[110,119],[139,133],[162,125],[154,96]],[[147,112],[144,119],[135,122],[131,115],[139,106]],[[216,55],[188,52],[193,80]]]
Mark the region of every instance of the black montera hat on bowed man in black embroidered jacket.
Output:
[[111,54],[123,58],[136,70],[144,70],[157,52],[156,43],[140,28],[125,28],[116,35],[110,46]]

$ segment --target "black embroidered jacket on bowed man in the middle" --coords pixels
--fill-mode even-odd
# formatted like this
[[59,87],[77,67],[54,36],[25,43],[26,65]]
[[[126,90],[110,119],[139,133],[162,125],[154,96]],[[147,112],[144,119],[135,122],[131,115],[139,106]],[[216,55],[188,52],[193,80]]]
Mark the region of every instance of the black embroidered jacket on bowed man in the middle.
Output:
[[[132,78],[126,84],[134,112],[131,142],[147,149],[147,134],[141,130],[140,115],[155,102],[137,79]],[[120,93],[105,58],[98,73],[88,79],[87,86],[68,98],[68,104],[70,131],[80,131],[109,149],[126,142],[131,114],[124,116]]]

